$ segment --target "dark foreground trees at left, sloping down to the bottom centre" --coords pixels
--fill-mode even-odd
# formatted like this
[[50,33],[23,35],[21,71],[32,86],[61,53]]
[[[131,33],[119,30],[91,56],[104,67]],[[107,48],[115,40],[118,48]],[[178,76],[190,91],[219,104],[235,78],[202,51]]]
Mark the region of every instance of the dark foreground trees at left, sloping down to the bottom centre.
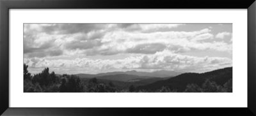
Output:
[[81,81],[76,75],[56,75],[49,68],[31,75],[24,64],[24,92],[118,92],[113,83],[99,83],[96,78]]

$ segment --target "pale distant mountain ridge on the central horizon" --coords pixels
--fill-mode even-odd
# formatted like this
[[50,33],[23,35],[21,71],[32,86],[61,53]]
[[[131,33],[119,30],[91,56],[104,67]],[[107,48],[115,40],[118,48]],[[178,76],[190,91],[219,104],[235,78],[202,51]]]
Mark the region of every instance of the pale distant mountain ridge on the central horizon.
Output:
[[99,77],[99,76],[107,76],[107,75],[136,75],[136,76],[148,76],[148,77],[172,77],[182,74],[182,72],[176,72],[176,71],[154,71],[154,72],[143,72],[143,71],[114,71],[114,72],[108,72],[108,73],[99,73],[95,75],[91,74],[77,74],[77,76],[81,78],[93,78],[93,77]]

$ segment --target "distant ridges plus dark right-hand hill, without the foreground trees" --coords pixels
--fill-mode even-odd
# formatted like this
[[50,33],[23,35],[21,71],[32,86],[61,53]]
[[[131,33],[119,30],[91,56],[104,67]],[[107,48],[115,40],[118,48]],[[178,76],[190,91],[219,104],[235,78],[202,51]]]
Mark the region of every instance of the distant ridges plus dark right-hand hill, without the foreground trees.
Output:
[[[161,74],[161,72],[163,72],[163,74]],[[232,79],[232,67],[216,69],[205,73],[177,73],[174,71],[156,71],[148,73],[125,71],[100,73],[96,75],[77,74],[77,76],[85,82],[91,78],[97,78],[101,83],[112,82],[122,89],[133,85],[138,90],[156,91],[165,86],[176,89],[177,92],[183,92],[189,83],[202,86],[202,83],[207,79],[211,79],[218,85],[223,85],[225,82]]]

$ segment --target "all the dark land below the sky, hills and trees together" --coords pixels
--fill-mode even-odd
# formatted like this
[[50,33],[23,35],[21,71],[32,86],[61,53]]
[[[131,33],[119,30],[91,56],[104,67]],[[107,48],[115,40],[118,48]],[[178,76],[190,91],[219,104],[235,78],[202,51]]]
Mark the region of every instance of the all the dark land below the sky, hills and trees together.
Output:
[[49,72],[49,68],[31,75],[24,64],[24,92],[232,92],[232,68],[172,78],[124,74],[80,78],[57,75]]

